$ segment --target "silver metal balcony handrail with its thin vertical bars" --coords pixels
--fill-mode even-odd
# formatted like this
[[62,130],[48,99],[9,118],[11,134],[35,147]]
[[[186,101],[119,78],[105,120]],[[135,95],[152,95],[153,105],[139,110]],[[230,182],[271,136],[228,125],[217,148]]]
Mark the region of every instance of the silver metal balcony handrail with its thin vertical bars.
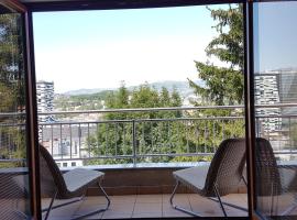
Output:
[[[285,107],[297,107],[297,103],[261,105],[261,106],[256,106],[256,108],[264,108],[264,109],[265,108],[285,108]],[[243,109],[243,106],[208,106],[208,107],[109,109],[109,110],[88,110],[88,111],[56,111],[56,112],[43,112],[43,113],[40,113],[40,116],[73,114],[73,113],[80,114],[80,113],[110,113],[110,112],[124,113],[124,112],[152,112],[152,111],[187,111],[187,110],[205,110],[205,109]],[[1,114],[9,116],[9,113],[0,113],[0,117],[1,117]],[[11,116],[21,116],[21,114],[23,114],[23,113],[13,113]],[[184,144],[186,144],[185,145],[186,150],[183,153],[180,153],[180,152],[179,153],[177,153],[177,152],[169,152],[169,151],[168,151],[168,153],[166,153],[166,152],[164,153],[162,151],[160,151],[160,152],[145,152],[144,153],[144,152],[141,152],[140,150],[136,151],[136,147],[140,147],[140,146],[146,147],[145,144],[144,145],[140,145],[140,143],[139,143],[139,141],[142,141],[142,135],[143,135],[143,139],[144,139],[144,135],[147,135],[148,139],[150,138],[152,139],[152,135],[154,135],[154,133],[152,133],[151,130],[148,131],[148,133],[145,133],[145,134],[142,133],[143,131],[141,131],[141,129],[142,129],[142,125],[143,124],[141,124],[141,123],[145,123],[146,122],[146,123],[148,123],[148,127],[150,127],[150,123],[151,122],[152,123],[153,122],[154,123],[156,123],[156,122],[161,122],[161,123],[162,122],[166,122],[165,125],[167,123],[170,123],[170,122],[172,123],[174,123],[174,122],[183,122],[184,123],[185,122],[186,133],[189,132],[189,131],[190,132],[194,132],[194,133],[191,133],[191,135],[194,135],[194,134],[195,135],[198,135],[198,136],[200,135],[200,138],[202,138],[205,140],[206,139],[209,139],[208,135],[210,135],[210,139],[213,138],[212,139],[213,140],[212,142],[215,143],[216,140],[218,140],[218,136],[220,138],[220,135],[221,135],[221,133],[215,133],[215,132],[212,132],[212,129],[216,129],[215,125],[213,125],[215,123],[212,125],[210,125],[210,127],[209,125],[204,125],[205,128],[201,128],[200,131],[202,133],[200,133],[200,134],[199,134],[199,131],[196,134],[196,131],[189,130],[189,129],[191,129],[190,127],[196,124],[195,121],[204,121],[204,120],[206,120],[206,121],[213,121],[213,122],[218,122],[218,123],[220,123],[220,121],[222,121],[222,122],[224,122],[224,121],[234,121],[235,122],[237,120],[244,120],[244,117],[241,116],[241,114],[243,114],[243,111],[239,111],[238,114],[239,116],[232,116],[232,117],[213,117],[213,116],[210,116],[210,117],[200,117],[200,118],[199,117],[195,117],[195,118],[194,117],[184,117],[184,118],[167,118],[167,119],[161,119],[161,118],[157,118],[157,119],[124,119],[124,120],[96,120],[96,121],[70,121],[70,122],[55,122],[54,121],[54,122],[46,122],[46,123],[41,122],[38,125],[40,125],[40,128],[46,128],[46,127],[48,127],[50,129],[52,129],[52,138],[51,138],[52,139],[52,154],[54,153],[53,152],[53,141],[54,141],[54,139],[59,139],[58,142],[62,145],[62,144],[64,144],[63,141],[62,141],[63,136],[65,138],[65,135],[68,135],[68,134],[63,134],[63,129],[64,128],[65,129],[66,128],[69,128],[69,131],[70,131],[70,134],[69,134],[70,135],[70,141],[73,139],[72,135],[74,135],[74,134],[72,134],[72,131],[76,131],[74,129],[77,129],[77,131],[80,133],[79,136],[78,136],[79,138],[78,150],[76,150],[76,151],[78,151],[78,154],[76,156],[72,156],[73,153],[70,153],[70,157],[69,157],[67,155],[64,155],[64,153],[61,153],[61,155],[59,155],[61,157],[59,158],[56,158],[57,161],[65,161],[65,160],[74,160],[74,161],[76,161],[76,160],[82,160],[82,161],[85,161],[85,160],[96,160],[96,158],[131,158],[131,160],[133,160],[133,163],[136,164],[138,163],[138,158],[143,158],[143,157],[163,157],[163,156],[169,156],[169,157],[174,156],[174,157],[177,157],[177,156],[211,156],[211,155],[213,155],[212,148],[211,148],[211,152],[207,152],[207,151],[204,151],[204,150],[202,151],[199,150],[200,152],[198,152],[197,148],[196,148],[196,152],[189,151],[189,145],[188,145],[189,143],[188,143],[188,136],[187,136],[188,134],[186,134],[186,136],[185,136],[185,139],[187,139],[186,140],[186,143],[184,143]],[[271,118],[272,119],[279,118],[279,121],[282,121],[282,119],[288,118],[289,121],[290,121],[290,118],[297,118],[297,114],[257,116],[256,117],[257,124],[265,123],[265,121],[263,119],[271,119]],[[193,123],[188,123],[189,121],[193,121]],[[127,128],[128,129],[131,129],[132,128],[132,133],[125,133],[125,134],[127,135],[131,135],[130,136],[130,141],[131,140],[132,141],[131,142],[123,141],[123,145],[131,147],[131,150],[132,150],[131,154],[129,153],[128,155],[123,155],[123,154],[118,154],[116,152],[116,155],[113,155],[113,154],[110,154],[110,155],[107,154],[107,155],[97,156],[97,155],[91,155],[90,153],[88,153],[88,156],[87,157],[84,157],[84,155],[80,154],[81,152],[84,153],[84,152],[90,150],[89,148],[90,146],[88,144],[87,144],[88,146],[85,146],[85,145],[81,146],[81,142],[84,142],[84,141],[86,142],[86,140],[82,140],[82,138],[87,139],[86,138],[86,132],[87,132],[87,136],[89,138],[90,134],[91,134],[90,132],[94,132],[95,129],[96,129],[96,127],[98,128],[98,124],[103,124],[103,123],[109,123],[110,127],[112,127],[112,128],[113,128],[113,124],[114,124],[114,128],[118,127],[120,123],[129,123],[130,124]],[[86,130],[86,125],[84,125],[84,124],[87,125],[87,130]],[[290,124],[290,122],[289,122],[289,124]],[[7,125],[10,125],[10,124],[9,123],[6,123],[6,124],[1,124],[1,125],[6,125],[7,127]],[[16,127],[16,125],[24,125],[24,124],[21,124],[21,123],[13,124],[12,123],[11,125],[12,127]],[[76,125],[77,125],[77,128],[76,128]],[[188,127],[188,125],[190,125],[190,127]],[[140,130],[136,130],[136,127]],[[55,135],[55,138],[54,138],[53,130],[55,128],[58,130],[57,132],[59,134],[58,135]],[[184,127],[182,127],[182,128],[184,129]],[[92,129],[92,130],[90,131],[90,129]],[[258,129],[258,128],[256,128],[256,129]],[[81,132],[85,132],[85,134],[82,134],[85,136],[81,136]],[[114,132],[117,133],[116,130],[114,130]],[[169,131],[169,132],[172,132],[172,131]],[[277,131],[277,132],[286,132],[286,131],[283,128],[282,131]],[[177,133],[178,133],[178,131],[177,131]],[[117,133],[116,135],[119,135],[119,134],[120,133]],[[232,134],[231,134],[231,136],[232,136]],[[66,139],[68,139],[68,138],[66,138]],[[108,136],[106,136],[106,138],[108,138]],[[224,138],[226,138],[224,134],[222,134],[222,139],[224,139]],[[117,138],[114,136],[114,139],[117,139]],[[123,139],[125,139],[125,138],[123,136]],[[112,141],[112,140],[113,140],[113,138],[110,139],[110,140],[108,140],[108,141]],[[114,143],[116,143],[116,151],[117,151],[117,141]],[[130,145],[130,143],[131,143],[131,145]],[[70,142],[70,152],[73,151],[73,145],[72,144],[73,144],[73,142]],[[156,145],[154,145],[154,144],[156,144]],[[165,147],[167,147],[166,144],[168,144],[167,141],[164,142],[164,143],[163,142],[160,142],[160,143],[157,142],[157,143],[152,143],[152,146],[154,145],[155,147],[158,147],[158,146],[162,146],[162,147],[165,146]],[[213,147],[213,151],[215,151],[216,150],[216,144],[213,144],[213,146],[211,145],[211,146],[206,146],[206,147]],[[114,147],[114,146],[111,146],[111,145],[108,145],[107,144],[103,147]],[[121,145],[119,145],[119,147],[121,147]],[[201,146],[199,146],[199,147],[201,147]],[[277,152],[276,151],[275,153],[276,154],[282,154],[282,151],[280,152]],[[290,150],[288,152],[287,151],[284,151],[284,155],[285,154],[297,154],[297,152],[295,152],[294,148],[290,147]]]

